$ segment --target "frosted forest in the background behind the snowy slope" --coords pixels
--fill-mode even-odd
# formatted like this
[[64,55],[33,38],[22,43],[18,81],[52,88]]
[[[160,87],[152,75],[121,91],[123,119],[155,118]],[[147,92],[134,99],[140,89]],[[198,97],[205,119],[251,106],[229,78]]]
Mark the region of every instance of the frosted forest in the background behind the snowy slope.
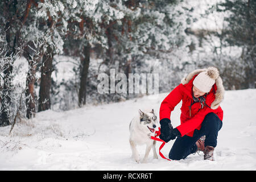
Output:
[[159,73],[159,93],[208,66],[226,90],[255,88],[256,2],[192,2],[1,1],[0,125],[141,96],[99,94],[110,69]]

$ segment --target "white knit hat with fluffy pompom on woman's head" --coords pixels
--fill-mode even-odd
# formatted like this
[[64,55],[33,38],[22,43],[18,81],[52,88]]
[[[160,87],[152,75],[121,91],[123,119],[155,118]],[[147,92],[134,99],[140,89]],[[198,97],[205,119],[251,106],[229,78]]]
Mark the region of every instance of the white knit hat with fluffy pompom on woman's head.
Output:
[[208,93],[212,86],[215,84],[215,80],[218,78],[218,69],[214,67],[207,68],[207,71],[199,73],[193,80],[193,85],[196,86],[201,92]]

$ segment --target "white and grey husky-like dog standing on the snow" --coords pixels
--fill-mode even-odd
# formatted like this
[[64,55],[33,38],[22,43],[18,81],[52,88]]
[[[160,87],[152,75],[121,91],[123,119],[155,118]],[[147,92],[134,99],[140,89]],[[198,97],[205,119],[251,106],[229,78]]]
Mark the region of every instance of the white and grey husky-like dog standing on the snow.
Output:
[[142,163],[147,162],[148,154],[152,148],[154,152],[154,159],[158,159],[158,155],[155,150],[155,140],[151,139],[151,136],[155,134],[156,127],[156,115],[154,114],[154,109],[148,113],[143,113],[139,109],[139,115],[131,120],[130,129],[130,146],[133,152],[133,158],[135,162],[139,163],[139,153],[137,151],[136,145],[146,144],[146,152]]

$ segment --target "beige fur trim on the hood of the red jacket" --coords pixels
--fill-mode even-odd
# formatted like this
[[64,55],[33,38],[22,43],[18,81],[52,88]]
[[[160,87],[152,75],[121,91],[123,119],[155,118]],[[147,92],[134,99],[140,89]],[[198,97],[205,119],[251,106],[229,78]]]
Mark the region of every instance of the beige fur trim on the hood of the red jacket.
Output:
[[[204,69],[196,69],[195,71],[189,73],[186,77],[184,77],[181,80],[181,84],[185,85],[188,84],[189,81],[191,81],[191,79],[195,76],[198,75],[201,72],[207,72],[208,69],[204,68]],[[215,84],[216,85],[216,93],[215,95],[215,100],[212,102],[212,104],[210,105],[211,109],[217,109],[218,106],[220,106],[220,102],[224,99],[224,93],[225,93],[225,89],[224,86],[222,84],[222,79],[220,76],[218,76],[215,80]]]

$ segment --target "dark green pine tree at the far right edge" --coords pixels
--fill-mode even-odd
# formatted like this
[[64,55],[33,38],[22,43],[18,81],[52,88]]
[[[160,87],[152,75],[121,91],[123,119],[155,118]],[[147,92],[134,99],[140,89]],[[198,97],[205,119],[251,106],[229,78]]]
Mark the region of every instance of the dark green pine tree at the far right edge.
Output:
[[[255,26],[256,26],[256,2],[250,0],[226,0],[219,3],[217,11],[229,13],[225,17],[228,26],[224,31],[224,42],[228,46],[242,48],[241,64],[245,74],[241,80],[241,88],[255,88]],[[241,73],[241,71],[240,71]]]

